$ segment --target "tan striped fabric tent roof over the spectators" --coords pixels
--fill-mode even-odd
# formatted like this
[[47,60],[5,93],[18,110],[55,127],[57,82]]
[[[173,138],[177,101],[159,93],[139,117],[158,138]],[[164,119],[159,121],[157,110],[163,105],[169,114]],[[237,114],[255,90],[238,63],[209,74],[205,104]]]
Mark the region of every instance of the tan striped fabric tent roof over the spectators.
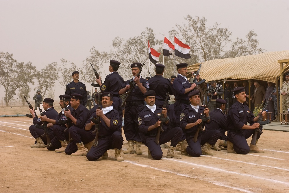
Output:
[[[235,80],[255,79],[275,82],[280,75],[280,64],[277,60],[288,58],[289,51],[280,51],[210,60],[202,63],[200,76],[207,81],[231,78]],[[199,68],[198,64],[190,65],[188,72],[197,70]]]

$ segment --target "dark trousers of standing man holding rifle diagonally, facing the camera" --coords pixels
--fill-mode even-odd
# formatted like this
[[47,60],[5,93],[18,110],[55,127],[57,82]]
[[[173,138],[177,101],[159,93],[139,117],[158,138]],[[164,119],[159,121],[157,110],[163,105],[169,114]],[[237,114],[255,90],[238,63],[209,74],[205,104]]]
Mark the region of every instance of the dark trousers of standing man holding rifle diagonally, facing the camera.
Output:
[[125,134],[125,139],[143,141],[144,134],[139,132],[138,129],[138,113],[144,108],[144,105],[138,106],[125,106],[125,116],[123,118],[124,126],[123,131]]

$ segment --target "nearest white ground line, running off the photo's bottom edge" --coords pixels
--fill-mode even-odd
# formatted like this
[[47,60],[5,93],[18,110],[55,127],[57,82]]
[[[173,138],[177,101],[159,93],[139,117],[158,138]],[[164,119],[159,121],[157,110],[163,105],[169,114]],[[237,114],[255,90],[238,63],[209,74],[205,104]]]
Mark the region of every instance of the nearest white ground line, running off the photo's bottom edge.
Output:
[[172,171],[169,171],[169,170],[162,170],[162,169],[160,169],[160,168],[155,168],[155,167],[151,167],[151,166],[148,166],[148,165],[143,165],[143,164],[135,163],[135,162],[133,162],[133,161],[127,161],[127,160],[125,160],[125,162],[131,163],[131,164],[134,164],[134,165],[137,165],[137,166],[141,166],[141,167],[144,167],[144,168],[152,168],[152,169],[154,169],[154,170],[158,170],[158,171],[161,171],[161,172],[168,172],[168,173],[171,173],[171,174],[176,174],[176,175],[178,175],[178,176],[183,176],[183,177],[193,178],[193,179],[199,179],[199,180],[202,180],[202,181],[206,181],[206,182],[209,182],[209,183],[213,183],[213,184],[218,185],[218,186],[223,186],[223,187],[226,187],[226,188],[231,188],[231,189],[239,190],[239,191],[242,191],[242,192],[253,193],[253,192],[250,192],[250,191],[248,191],[248,190],[241,189],[241,188],[224,185],[224,184],[222,184],[222,183],[216,183],[216,182],[212,182],[212,181],[207,181],[207,180],[205,180],[205,179],[200,179],[200,178],[197,178],[197,177],[191,177],[191,176],[186,175],[186,174],[181,174],[181,173],[177,173],[177,172],[172,172]]

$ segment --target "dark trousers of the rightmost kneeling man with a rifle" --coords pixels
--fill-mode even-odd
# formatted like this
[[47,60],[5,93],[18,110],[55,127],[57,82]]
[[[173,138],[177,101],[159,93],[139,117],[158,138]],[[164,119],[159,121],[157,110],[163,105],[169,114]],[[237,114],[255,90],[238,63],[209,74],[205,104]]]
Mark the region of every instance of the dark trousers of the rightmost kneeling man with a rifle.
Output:
[[[250,124],[253,125],[254,123]],[[262,130],[262,126],[261,126]],[[234,150],[238,154],[247,154],[250,152],[250,147],[247,140],[252,135],[254,136],[255,129],[241,129],[241,130],[229,130],[228,141],[234,144]],[[261,133],[257,132],[257,139],[260,138]]]

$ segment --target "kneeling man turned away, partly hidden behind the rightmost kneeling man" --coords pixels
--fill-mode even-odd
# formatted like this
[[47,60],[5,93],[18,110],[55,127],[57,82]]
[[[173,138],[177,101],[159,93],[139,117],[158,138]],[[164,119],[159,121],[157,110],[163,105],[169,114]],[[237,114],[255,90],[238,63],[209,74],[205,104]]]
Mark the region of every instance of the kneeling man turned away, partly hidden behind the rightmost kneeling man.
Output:
[[227,131],[227,115],[224,114],[224,110],[226,109],[227,102],[223,99],[216,99],[216,109],[210,111],[209,115],[211,117],[211,123],[207,124],[205,127],[206,131],[210,130],[218,130],[221,135],[214,145],[214,150],[221,150],[223,146],[226,146],[227,136],[225,132]]

